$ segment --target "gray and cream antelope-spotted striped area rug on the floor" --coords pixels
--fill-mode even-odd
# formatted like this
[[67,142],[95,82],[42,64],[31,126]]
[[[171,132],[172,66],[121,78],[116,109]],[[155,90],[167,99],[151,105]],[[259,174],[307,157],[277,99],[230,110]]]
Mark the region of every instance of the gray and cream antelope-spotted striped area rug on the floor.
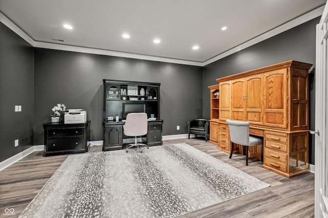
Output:
[[20,217],[174,217],[269,186],[185,143],[71,155]]

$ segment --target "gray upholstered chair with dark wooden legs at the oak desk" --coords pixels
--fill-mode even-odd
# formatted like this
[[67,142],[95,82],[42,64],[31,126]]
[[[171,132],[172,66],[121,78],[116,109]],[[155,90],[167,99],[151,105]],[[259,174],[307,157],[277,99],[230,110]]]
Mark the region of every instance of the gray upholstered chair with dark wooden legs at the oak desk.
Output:
[[263,140],[250,136],[250,123],[244,121],[227,120],[230,132],[231,150],[230,159],[234,151],[234,143],[245,147],[246,166],[248,166],[248,146],[262,145],[261,161],[263,162]]

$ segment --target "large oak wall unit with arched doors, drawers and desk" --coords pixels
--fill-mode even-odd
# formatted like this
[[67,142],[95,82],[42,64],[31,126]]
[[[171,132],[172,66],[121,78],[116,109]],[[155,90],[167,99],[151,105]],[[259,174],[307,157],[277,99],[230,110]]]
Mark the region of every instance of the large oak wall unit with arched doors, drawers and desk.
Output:
[[[226,120],[249,121],[250,134],[263,137],[262,167],[288,178],[308,172],[311,66],[291,60],[216,79],[219,82],[218,117],[211,117],[210,126],[216,127],[218,134],[211,142],[217,142],[218,149],[230,152]],[[214,88],[209,88],[212,88],[212,99]],[[234,152],[240,149],[236,147]],[[249,151],[250,156],[258,159],[261,152],[261,146]]]

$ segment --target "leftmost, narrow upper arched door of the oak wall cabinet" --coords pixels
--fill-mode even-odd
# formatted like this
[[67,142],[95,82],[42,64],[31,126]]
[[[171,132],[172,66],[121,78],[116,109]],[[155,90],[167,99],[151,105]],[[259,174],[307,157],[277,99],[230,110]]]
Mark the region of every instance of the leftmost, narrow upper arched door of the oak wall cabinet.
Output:
[[219,117],[220,120],[227,120],[230,119],[230,81],[228,82],[221,82],[220,84],[220,99],[219,99],[219,106],[220,112]]

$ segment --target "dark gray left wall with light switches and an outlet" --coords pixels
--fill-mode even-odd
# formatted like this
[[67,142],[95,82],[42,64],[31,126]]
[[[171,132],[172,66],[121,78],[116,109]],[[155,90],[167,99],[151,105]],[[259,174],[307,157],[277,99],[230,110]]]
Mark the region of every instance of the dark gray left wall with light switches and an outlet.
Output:
[[[33,47],[2,23],[0,102],[2,162],[33,145]],[[15,105],[22,105],[22,112],[14,112]]]

